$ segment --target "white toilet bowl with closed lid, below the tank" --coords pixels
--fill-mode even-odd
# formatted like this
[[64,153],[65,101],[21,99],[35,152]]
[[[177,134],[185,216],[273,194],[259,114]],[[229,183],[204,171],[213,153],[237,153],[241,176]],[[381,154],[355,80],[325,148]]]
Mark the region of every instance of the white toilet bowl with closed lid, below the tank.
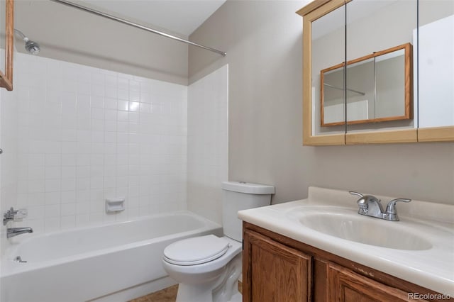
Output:
[[240,242],[206,235],[174,242],[164,250],[162,265],[179,282],[177,302],[241,301]]

